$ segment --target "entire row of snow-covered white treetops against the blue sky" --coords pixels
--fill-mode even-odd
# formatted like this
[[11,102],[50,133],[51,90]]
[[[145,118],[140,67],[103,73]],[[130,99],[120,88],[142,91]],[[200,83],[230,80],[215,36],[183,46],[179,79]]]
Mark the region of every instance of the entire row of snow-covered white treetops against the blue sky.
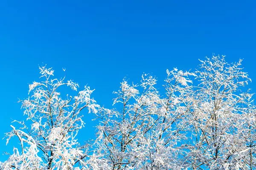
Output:
[[[52,69],[41,67],[43,81],[29,85],[29,98],[20,101],[26,123],[14,121],[20,127],[6,133],[7,143],[16,136],[20,147],[0,169],[256,169],[256,110],[241,60],[200,62],[194,72],[167,70],[165,94],[151,75],[137,85],[124,79],[113,109],[97,105],[87,86],[61,96],[61,86],[77,91],[78,84],[52,79]],[[98,123],[96,140],[81,145],[84,108]]]

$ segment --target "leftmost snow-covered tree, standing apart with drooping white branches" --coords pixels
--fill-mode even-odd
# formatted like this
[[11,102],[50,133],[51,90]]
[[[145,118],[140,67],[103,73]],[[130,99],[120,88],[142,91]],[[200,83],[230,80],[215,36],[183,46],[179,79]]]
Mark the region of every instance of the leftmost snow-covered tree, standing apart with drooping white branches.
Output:
[[86,166],[84,158],[88,155],[88,146],[80,145],[76,135],[84,126],[80,112],[85,108],[97,111],[98,105],[90,98],[93,90],[85,86],[76,96],[61,96],[58,92],[61,86],[73,91],[79,86],[64,78],[52,79],[53,72],[51,68],[41,67],[43,80],[29,85],[29,98],[20,101],[27,121],[14,121],[20,128],[11,125],[12,131],[6,133],[7,143],[16,136],[20,148],[14,148],[1,169],[70,170]]

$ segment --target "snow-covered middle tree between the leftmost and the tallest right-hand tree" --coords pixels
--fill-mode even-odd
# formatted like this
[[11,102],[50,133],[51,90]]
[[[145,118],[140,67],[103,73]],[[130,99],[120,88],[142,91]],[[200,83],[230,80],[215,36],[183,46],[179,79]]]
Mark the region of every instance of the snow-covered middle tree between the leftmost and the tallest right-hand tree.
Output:
[[165,97],[150,75],[143,75],[140,85],[128,85],[124,79],[114,92],[117,108],[102,110],[97,127],[98,152],[108,159],[111,169],[183,168],[177,159],[177,143],[186,140],[182,131],[187,130],[183,120],[191,107],[189,75],[177,69],[167,71]]

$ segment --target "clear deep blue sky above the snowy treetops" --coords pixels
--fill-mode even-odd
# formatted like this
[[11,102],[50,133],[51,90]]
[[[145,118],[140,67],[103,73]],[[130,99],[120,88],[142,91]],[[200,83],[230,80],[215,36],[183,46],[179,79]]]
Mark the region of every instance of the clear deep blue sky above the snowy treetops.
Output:
[[[122,78],[139,82],[151,73],[163,83],[166,69],[196,68],[212,53],[244,59],[256,85],[254,0],[73,0],[0,2],[0,138],[22,120],[18,98],[38,79],[38,65],[96,89],[100,105],[111,106]],[[256,91],[256,88],[253,90]],[[11,119],[12,118],[12,119]],[[79,137],[93,136],[91,116]],[[0,140],[4,151],[12,152]]]

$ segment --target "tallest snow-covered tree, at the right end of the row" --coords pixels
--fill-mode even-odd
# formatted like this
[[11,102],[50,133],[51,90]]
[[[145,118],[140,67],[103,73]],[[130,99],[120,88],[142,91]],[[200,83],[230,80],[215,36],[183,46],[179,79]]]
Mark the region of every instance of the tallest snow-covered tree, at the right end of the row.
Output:
[[201,61],[195,72],[198,85],[190,95],[188,122],[191,140],[183,144],[191,169],[256,168],[251,158],[255,110],[252,94],[244,88],[250,79],[240,66],[241,60],[228,64],[224,56],[213,56]]

